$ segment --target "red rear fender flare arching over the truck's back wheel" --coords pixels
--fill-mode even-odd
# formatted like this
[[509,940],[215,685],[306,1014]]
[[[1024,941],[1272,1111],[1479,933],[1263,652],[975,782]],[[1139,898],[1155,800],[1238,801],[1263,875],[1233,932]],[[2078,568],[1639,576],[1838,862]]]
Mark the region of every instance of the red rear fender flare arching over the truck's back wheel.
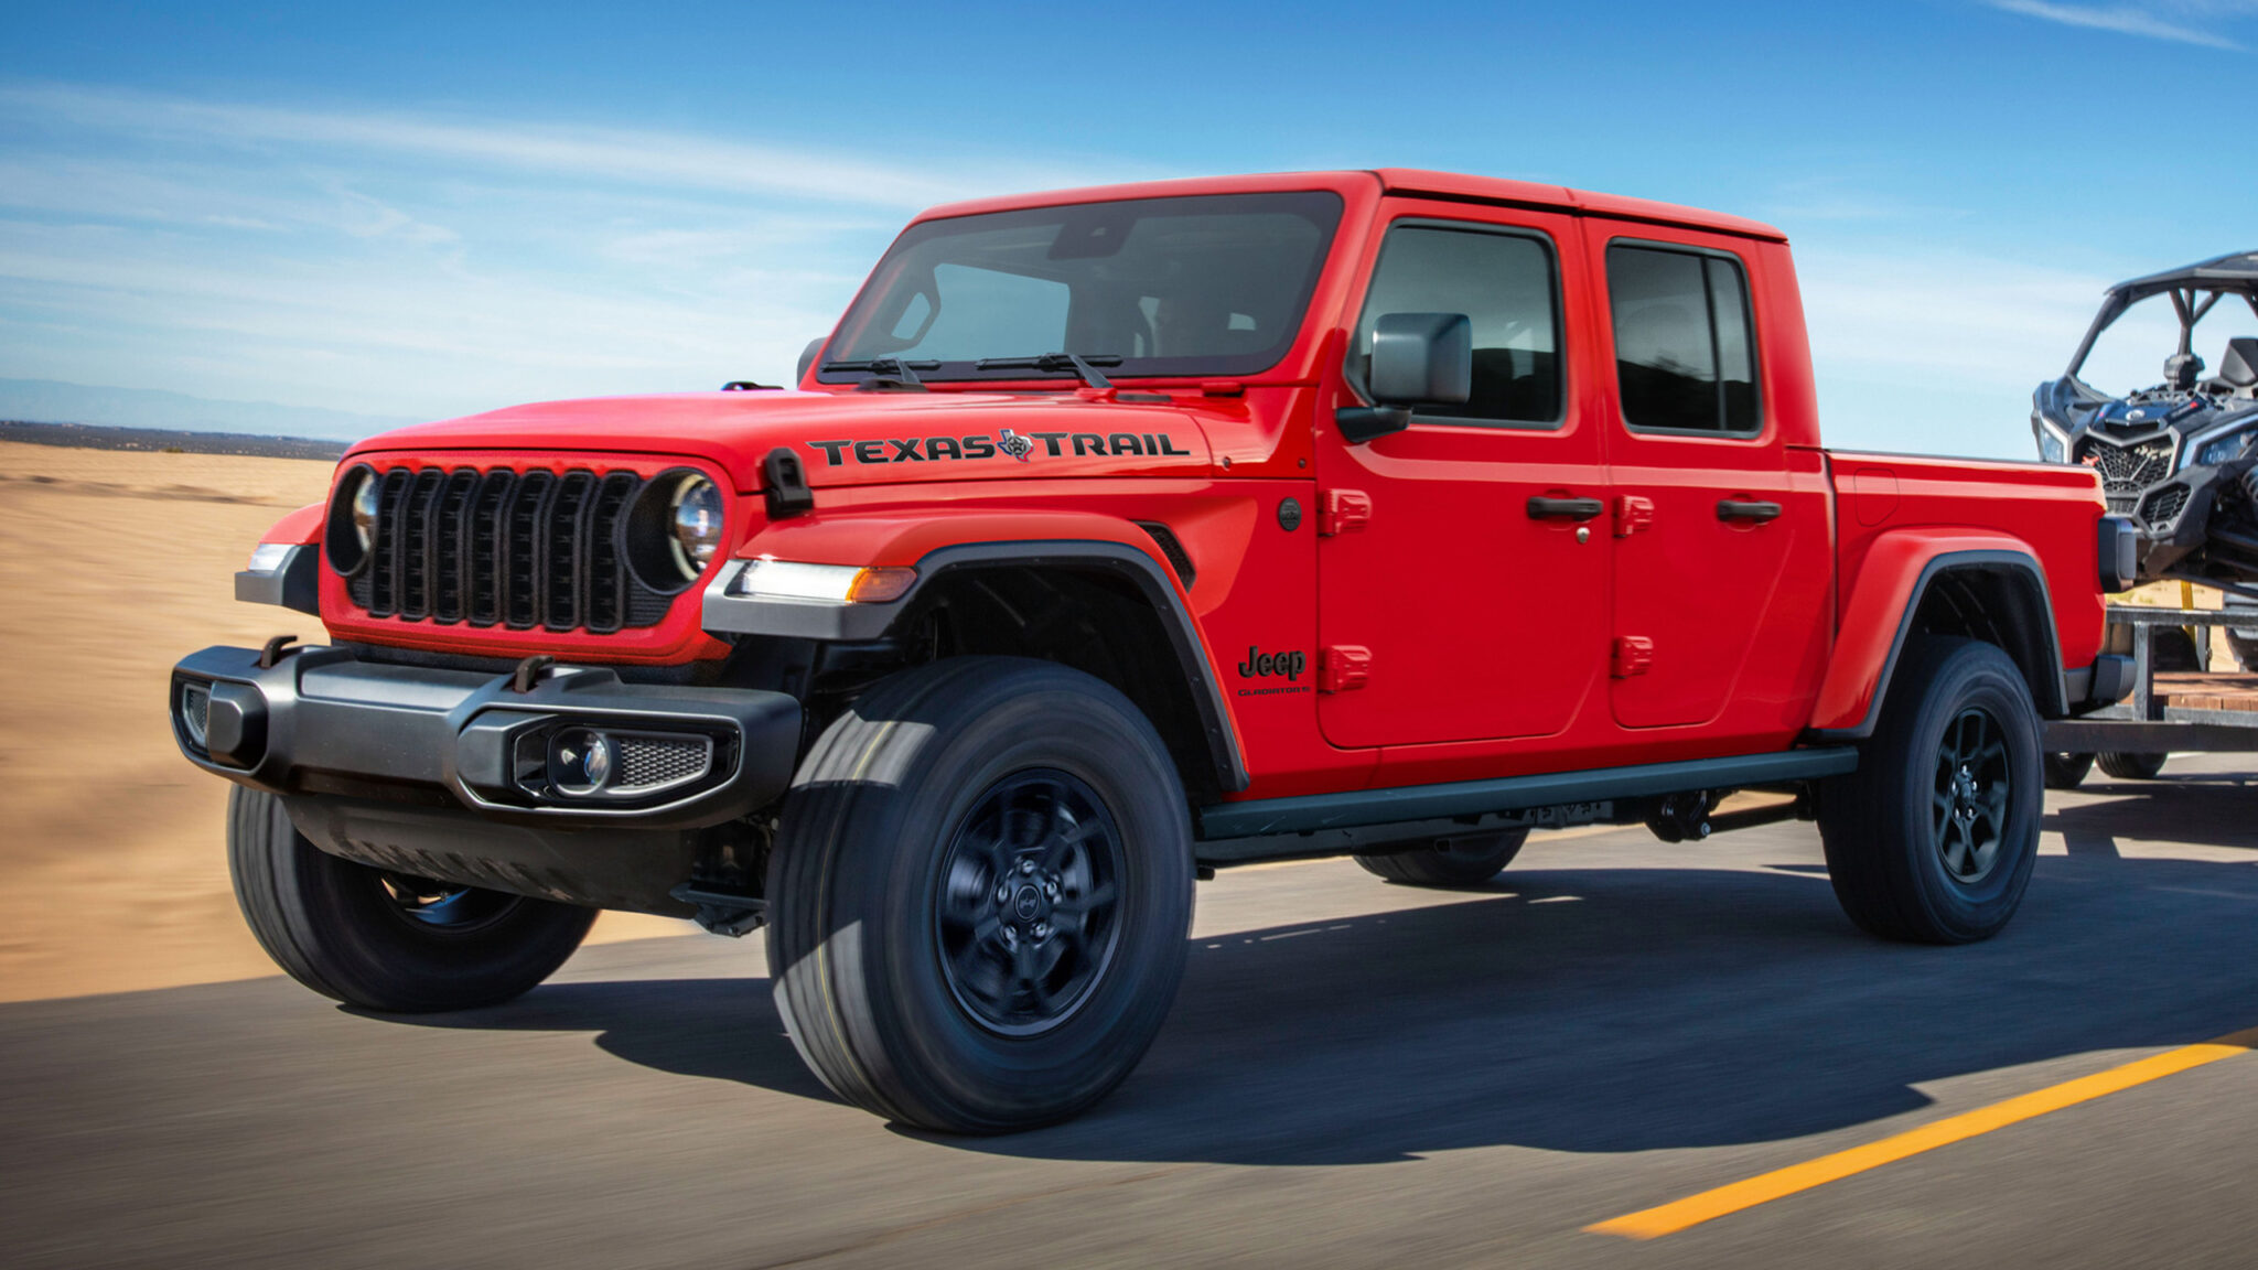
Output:
[[2068,714],[2062,640],[2037,551],[2007,533],[1897,529],[1874,540],[1849,588],[1833,660],[1811,712],[1815,739],[1858,741],[1874,732],[1922,601],[1940,579],[1955,574],[2005,597],[2001,603],[2012,608],[1994,617],[2007,655],[2023,669],[2039,714]]

